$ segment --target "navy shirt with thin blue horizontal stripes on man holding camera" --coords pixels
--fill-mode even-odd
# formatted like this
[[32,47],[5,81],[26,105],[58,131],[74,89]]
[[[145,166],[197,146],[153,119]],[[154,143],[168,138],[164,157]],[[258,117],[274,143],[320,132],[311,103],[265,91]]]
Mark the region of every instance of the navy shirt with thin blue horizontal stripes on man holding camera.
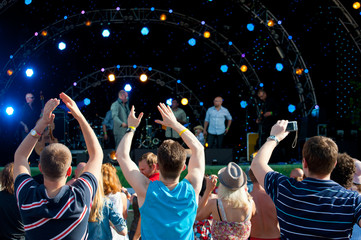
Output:
[[297,182],[271,171],[265,189],[276,205],[281,239],[349,239],[361,218],[361,196],[332,180]]

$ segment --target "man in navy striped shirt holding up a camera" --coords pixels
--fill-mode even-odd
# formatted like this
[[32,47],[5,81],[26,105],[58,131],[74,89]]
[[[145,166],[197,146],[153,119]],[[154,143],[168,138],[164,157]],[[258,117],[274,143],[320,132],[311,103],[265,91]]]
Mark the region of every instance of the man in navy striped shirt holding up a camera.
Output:
[[258,182],[275,203],[281,239],[349,239],[361,223],[361,195],[330,180],[338,147],[327,137],[315,136],[302,149],[303,181],[275,172],[268,165],[283,140],[288,121],[278,121],[252,161]]

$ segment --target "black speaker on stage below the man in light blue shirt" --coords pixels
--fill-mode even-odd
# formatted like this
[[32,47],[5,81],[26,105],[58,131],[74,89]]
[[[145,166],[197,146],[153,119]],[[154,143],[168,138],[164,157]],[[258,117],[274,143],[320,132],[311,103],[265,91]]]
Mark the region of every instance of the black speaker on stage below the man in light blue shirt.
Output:
[[233,161],[232,148],[207,148],[206,165],[227,165]]

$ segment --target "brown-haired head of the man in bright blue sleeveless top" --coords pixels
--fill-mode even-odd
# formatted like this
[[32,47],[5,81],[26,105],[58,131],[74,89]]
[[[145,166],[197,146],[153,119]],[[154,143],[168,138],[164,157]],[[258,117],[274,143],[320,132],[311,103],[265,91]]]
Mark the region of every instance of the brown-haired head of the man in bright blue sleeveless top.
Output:
[[165,140],[158,148],[159,171],[163,178],[177,179],[185,169],[187,153],[176,141]]

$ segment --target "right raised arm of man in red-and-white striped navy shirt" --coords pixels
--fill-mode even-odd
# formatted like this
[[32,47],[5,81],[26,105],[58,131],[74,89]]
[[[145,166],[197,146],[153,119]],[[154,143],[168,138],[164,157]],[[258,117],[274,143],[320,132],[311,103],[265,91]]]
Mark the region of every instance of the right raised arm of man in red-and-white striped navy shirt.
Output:
[[89,160],[84,167],[84,172],[90,172],[97,179],[99,179],[101,176],[101,167],[103,163],[103,150],[99,144],[98,138],[73,99],[71,99],[65,93],[61,93],[60,98],[69,108],[73,117],[78,121],[84,136],[86,147],[89,153]]

